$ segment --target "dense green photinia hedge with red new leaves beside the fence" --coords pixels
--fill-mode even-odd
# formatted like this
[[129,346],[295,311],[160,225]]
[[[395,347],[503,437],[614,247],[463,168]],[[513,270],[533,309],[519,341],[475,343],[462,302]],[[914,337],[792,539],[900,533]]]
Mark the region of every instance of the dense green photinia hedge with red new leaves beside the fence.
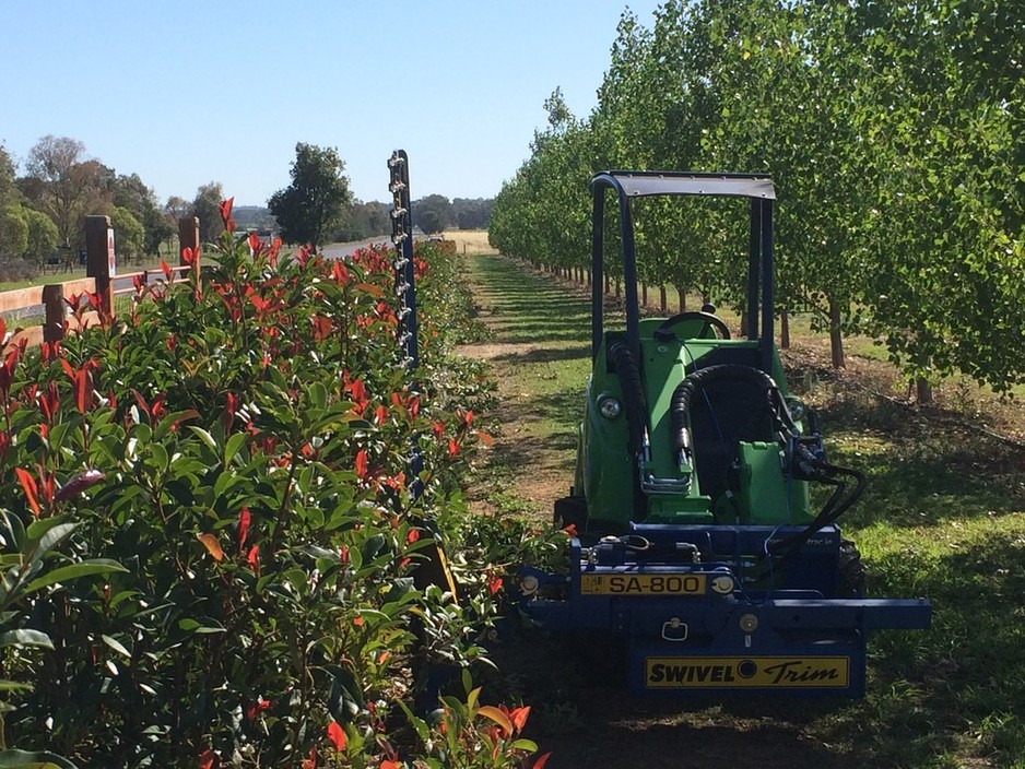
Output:
[[[7,732],[85,766],[401,766],[415,671],[478,659],[495,612],[487,580],[457,604],[416,579],[467,529],[492,398],[451,355],[456,258],[417,255],[411,375],[390,249],[285,256],[222,213],[202,270],[37,352],[15,334],[0,364],[2,564],[12,532],[60,532],[0,616],[21,634],[0,642],[46,639],[8,650],[8,688],[33,687]],[[522,755],[510,736],[495,749]]]

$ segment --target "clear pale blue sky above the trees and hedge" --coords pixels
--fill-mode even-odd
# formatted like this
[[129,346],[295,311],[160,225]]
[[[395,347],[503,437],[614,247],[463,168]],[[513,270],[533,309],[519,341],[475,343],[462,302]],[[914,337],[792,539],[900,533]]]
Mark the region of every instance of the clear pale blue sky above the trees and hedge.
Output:
[[160,202],[219,181],[287,187],[295,145],[335,147],[353,194],[491,198],[562,87],[587,116],[623,11],[658,0],[0,0],[0,144],[70,137]]

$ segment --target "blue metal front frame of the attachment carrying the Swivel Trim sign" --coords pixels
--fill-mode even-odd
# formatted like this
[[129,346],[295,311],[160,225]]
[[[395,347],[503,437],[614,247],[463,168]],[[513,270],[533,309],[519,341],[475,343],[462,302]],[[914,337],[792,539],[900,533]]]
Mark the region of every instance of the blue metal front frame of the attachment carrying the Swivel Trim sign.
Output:
[[[745,585],[770,563],[758,558],[767,542],[800,530],[634,524],[623,537],[591,543],[573,537],[569,573],[525,569],[521,580],[533,578],[538,589],[519,606],[552,629],[608,632],[625,640],[637,694],[762,689],[860,697],[870,632],[928,628],[929,602],[825,598],[838,588],[840,532],[835,525],[824,527],[784,559],[774,584]],[[661,546],[662,555],[634,552],[631,543],[636,546],[639,537],[650,544],[644,552]],[[697,545],[709,559],[695,563],[683,544]],[[586,579],[611,577],[621,585],[632,578],[679,583],[697,577],[704,585],[686,595],[588,594],[584,589]],[[722,578],[733,587],[717,592],[712,583]],[[843,675],[832,670],[836,666],[845,669]],[[662,675],[684,679],[651,681]],[[836,678],[818,677],[827,675]]]

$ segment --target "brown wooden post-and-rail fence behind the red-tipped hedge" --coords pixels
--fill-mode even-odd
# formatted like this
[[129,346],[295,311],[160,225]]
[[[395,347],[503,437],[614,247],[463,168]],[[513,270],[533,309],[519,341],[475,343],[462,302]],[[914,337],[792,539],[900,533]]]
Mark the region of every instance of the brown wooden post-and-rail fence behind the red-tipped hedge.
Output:
[[[17,334],[4,344],[0,340],[0,352],[10,344],[26,340],[28,346],[38,346],[43,342],[55,342],[64,338],[69,331],[76,331],[81,327],[95,326],[99,322],[99,313],[116,317],[115,297],[134,294],[137,285],[146,285],[152,276],[162,275],[165,282],[175,282],[190,270],[199,269],[199,220],[192,216],[178,220],[178,241],[181,250],[191,249],[195,258],[187,263],[179,257],[179,263],[164,270],[142,270],[118,274],[117,252],[115,249],[114,228],[109,216],[85,217],[85,250],[86,277],[62,283],[48,283],[46,285],[15,288],[0,292],[0,313],[17,310],[32,311],[43,307],[43,323],[33,323],[20,327]],[[180,251],[179,251],[180,255]],[[168,280],[169,275],[169,280]],[[72,305],[89,295],[93,309],[72,313]],[[81,318],[81,327],[78,318]],[[11,324],[8,323],[10,328]]]

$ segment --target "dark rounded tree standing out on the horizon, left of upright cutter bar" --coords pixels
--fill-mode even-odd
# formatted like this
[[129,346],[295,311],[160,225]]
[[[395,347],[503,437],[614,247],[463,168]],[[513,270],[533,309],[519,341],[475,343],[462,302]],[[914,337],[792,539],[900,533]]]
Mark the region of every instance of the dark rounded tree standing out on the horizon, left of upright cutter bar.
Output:
[[267,203],[285,242],[323,246],[346,221],[352,206],[345,164],[333,147],[295,145],[292,184]]

